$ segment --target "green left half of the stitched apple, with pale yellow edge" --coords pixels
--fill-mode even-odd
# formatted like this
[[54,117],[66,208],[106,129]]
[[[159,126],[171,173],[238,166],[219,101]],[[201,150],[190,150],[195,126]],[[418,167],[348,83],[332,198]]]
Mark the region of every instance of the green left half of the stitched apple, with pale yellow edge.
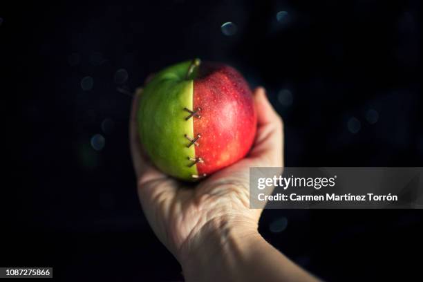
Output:
[[138,129],[140,140],[156,167],[171,176],[191,180],[198,175],[187,156],[195,156],[187,147],[185,134],[194,135],[194,123],[185,120],[193,109],[194,69],[187,77],[191,62],[164,68],[145,86],[140,97]]

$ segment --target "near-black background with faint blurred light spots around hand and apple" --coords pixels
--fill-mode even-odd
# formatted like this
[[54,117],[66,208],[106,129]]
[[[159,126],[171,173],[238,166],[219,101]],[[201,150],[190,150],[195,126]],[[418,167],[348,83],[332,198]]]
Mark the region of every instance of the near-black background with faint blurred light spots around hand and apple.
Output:
[[[61,281],[182,279],[140,209],[131,97],[116,88],[193,57],[267,88],[287,167],[421,167],[421,5],[2,1],[1,266],[53,266]],[[420,227],[420,210],[266,210],[260,232],[328,281],[409,281]]]

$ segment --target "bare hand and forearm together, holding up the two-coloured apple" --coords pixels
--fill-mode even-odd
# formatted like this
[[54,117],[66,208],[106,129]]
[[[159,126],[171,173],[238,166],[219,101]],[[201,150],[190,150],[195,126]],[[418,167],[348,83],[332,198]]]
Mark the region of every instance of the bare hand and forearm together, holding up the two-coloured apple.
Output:
[[158,171],[145,156],[133,99],[130,142],[138,196],[153,232],[182,266],[186,281],[319,281],[259,234],[262,209],[250,209],[250,167],[283,167],[283,122],[264,88],[254,91],[258,128],[252,150],[196,185]]

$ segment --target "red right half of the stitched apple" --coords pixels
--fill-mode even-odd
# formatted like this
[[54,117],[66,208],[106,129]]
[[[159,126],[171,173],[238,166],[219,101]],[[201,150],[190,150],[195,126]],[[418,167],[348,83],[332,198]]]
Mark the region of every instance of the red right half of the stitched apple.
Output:
[[256,135],[256,111],[250,87],[234,68],[205,62],[194,79],[194,135],[201,135],[198,173],[209,175],[247,155]]

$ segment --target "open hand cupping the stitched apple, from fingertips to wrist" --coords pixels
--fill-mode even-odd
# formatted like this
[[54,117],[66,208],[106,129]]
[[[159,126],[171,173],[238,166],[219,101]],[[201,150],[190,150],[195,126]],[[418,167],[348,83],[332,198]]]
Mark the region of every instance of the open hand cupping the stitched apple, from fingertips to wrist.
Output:
[[140,147],[133,99],[130,142],[144,214],[160,241],[183,265],[200,245],[229,234],[257,236],[261,209],[249,208],[250,167],[283,167],[283,122],[267,100],[264,88],[254,91],[258,117],[256,140],[246,158],[195,185],[179,182],[153,167]]

